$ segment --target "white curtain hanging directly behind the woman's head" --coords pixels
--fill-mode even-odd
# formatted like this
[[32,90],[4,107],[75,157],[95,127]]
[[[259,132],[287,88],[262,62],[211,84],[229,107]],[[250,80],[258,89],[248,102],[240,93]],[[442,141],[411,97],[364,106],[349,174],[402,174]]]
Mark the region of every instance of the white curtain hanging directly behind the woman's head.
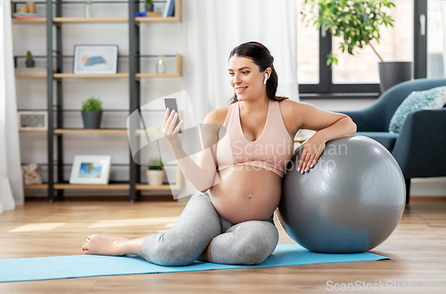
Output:
[[227,106],[234,94],[227,59],[244,42],[258,41],[274,56],[278,95],[297,101],[297,8],[294,0],[183,1],[186,90],[197,122]]

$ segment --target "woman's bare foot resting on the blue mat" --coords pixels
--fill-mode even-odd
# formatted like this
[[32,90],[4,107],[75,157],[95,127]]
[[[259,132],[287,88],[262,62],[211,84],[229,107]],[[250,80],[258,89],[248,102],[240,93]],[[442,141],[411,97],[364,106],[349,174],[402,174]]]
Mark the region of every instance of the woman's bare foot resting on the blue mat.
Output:
[[82,250],[85,254],[97,254],[97,255],[110,255],[114,257],[120,257],[128,254],[126,244],[128,239],[114,238],[103,235],[88,236]]

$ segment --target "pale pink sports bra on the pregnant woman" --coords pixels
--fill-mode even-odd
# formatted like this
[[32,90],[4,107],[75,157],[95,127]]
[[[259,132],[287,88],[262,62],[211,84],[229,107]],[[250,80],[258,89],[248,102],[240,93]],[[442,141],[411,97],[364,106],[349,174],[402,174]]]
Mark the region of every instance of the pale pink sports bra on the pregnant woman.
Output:
[[294,140],[286,131],[279,102],[269,100],[267,122],[253,142],[246,139],[240,123],[238,103],[229,106],[227,118],[219,130],[218,170],[238,165],[266,168],[280,177],[293,156]]

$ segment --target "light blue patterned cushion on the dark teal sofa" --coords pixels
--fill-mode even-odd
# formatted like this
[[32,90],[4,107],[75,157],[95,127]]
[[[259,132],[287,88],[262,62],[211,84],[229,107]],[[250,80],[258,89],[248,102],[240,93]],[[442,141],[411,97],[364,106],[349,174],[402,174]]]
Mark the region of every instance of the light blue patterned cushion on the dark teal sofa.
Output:
[[389,131],[400,133],[402,124],[410,112],[439,109],[442,108],[444,103],[446,103],[446,86],[412,92],[395,110],[389,124]]

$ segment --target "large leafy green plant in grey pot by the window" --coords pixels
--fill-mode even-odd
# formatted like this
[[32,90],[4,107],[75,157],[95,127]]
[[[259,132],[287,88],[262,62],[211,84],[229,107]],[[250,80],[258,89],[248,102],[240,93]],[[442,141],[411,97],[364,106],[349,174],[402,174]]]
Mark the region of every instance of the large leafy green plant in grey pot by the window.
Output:
[[[389,0],[305,0],[301,14],[307,25],[312,23],[319,29],[326,29],[334,37],[343,39],[340,48],[351,55],[353,49],[370,45],[381,62],[379,77],[381,92],[391,86],[412,79],[412,62],[384,62],[376,52],[374,41],[379,44],[380,30],[384,25],[393,26],[392,18],[384,12],[392,8]],[[318,9],[318,14],[315,10]],[[326,65],[337,64],[333,53],[327,55]]]

